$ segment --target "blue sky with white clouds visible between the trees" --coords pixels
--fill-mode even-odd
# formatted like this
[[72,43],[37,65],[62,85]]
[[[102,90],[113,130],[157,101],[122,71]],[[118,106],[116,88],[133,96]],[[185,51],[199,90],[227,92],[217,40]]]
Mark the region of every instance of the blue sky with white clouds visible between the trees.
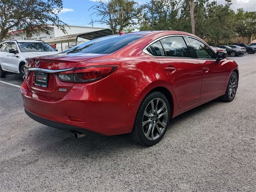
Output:
[[[99,22],[98,18],[93,15],[92,10],[88,10],[95,5],[96,0],[63,0],[63,9],[58,14],[60,19],[68,25],[91,26],[91,20],[94,21],[94,27],[106,27]],[[147,2],[147,0],[135,0],[139,4]],[[224,4],[225,0],[217,0],[220,4]],[[230,6],[233,10],[243,8],[246,11],[256,11],[256,0],[232,0]]]

